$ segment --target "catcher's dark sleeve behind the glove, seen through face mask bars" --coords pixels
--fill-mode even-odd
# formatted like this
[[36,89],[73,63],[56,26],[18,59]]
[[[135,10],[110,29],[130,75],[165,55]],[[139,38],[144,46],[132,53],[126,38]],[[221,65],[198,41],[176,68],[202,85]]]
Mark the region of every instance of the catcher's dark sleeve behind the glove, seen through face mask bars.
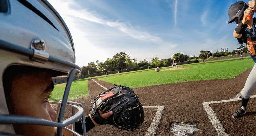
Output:
[[[95,125],[93,124],[93,122],[89,116],[86,116],[84,118],[85,118],[86,132],[87,132],[87,131],[91,130],[92,128],[94,128]],[[83,127],[82,127],[81,121],[75,122],[75,131],[81,135],[83,134]]]

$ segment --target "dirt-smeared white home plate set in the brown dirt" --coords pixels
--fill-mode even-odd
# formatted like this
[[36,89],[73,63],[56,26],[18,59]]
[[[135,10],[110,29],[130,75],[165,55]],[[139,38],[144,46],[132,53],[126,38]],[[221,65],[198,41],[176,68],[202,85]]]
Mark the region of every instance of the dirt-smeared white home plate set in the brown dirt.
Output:
[[175,136],[193,136],[199,129],[196,128],[196,124],[186,124],[181,122],[171,124],[170,131]]

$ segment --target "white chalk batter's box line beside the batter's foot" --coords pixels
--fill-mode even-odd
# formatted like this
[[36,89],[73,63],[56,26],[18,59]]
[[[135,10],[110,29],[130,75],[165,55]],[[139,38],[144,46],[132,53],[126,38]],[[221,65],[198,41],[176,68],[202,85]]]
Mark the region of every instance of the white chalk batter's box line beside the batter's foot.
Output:
[[[252,95],[250,98],[255,98],[256,95]],[[204,102],[203,107],[207,113],[207,116],[212,123],[212,126],[215,128],[218,136],[228,136],[225,132],[224,127],[222,126],[220,120],[215,115],[213,109],[210,107],[210,104],[217,104],[217,103],[225,103],[225,102],[233,102],[233,101],[240,101],[241,98],[229,99],[229,100],[221,100],[221,101],[211,101],[211,102]],[[231,115],[230,115],[231,118]]]

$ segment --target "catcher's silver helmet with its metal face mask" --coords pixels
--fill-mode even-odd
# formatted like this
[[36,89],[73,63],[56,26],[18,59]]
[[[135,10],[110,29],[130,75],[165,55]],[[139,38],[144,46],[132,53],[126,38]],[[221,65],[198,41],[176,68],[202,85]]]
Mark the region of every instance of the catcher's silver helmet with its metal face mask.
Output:
[[[82,105],[67,101],[73,76],[79,76],[81,71],[75,64],[69,29],[53,6],[47,0],[4,0],[0,28],[0,135],[15,134],[12,124],[56,126],[58,135],[62,135],[63,127],[81,117],[85,134]],[[62,101],[53,102],[60,106],[58,122],[9,115],[2,78],[5,69],[13,65],[50,69],[56,78],[68,76]],[[78,112],[63,121],[66,104]]]

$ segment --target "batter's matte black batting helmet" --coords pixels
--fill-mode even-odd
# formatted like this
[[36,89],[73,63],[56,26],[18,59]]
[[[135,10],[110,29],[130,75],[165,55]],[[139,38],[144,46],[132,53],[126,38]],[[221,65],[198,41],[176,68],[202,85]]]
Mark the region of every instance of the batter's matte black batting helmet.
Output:
[[236,24],[240,23],[242,21],[242,17],[244,16],[244,11],[248,7],[249,6],[243,1],[238,1],[232,4],[228,9],[229,21],[227,23],[229,24],[233,21],[235,21]]

